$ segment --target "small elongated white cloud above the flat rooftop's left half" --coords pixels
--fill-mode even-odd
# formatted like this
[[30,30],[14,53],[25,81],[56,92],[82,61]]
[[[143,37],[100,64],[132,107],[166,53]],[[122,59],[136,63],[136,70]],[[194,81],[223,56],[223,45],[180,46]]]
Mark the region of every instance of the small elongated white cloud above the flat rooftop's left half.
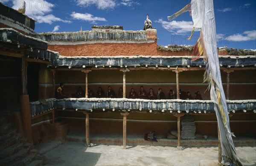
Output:
[[76,13],[75,11],[70,14],[73,19],[88,21],[90,23],[96,23],[96,21],[107,21],[104,17],[94,17],[90,13]]

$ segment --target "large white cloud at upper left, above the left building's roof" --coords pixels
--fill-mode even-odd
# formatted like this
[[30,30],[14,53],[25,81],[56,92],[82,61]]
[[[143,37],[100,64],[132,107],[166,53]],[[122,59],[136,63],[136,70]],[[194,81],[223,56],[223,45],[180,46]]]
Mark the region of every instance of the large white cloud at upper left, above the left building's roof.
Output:
[[[13,9],[19,9],[21,0],[12,0]],[[53,9],[58,9],[58,6],[53,3],[49,3],[46,0],[25,0],[26,12],[25,14],[38,23],[52,24],[55,21],[61,21],[64,23],[71,23],[68,20],[62,20],[61,18],[55,17],[53,14],[49,14]]]

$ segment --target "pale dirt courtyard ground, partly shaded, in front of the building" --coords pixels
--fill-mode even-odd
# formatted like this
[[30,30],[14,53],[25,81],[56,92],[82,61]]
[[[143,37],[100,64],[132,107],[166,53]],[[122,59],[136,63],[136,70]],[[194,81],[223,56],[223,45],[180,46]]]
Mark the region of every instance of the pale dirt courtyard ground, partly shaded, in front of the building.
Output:
[[[244,166],[256,166],[256,147],[236,147]],[[122,146],[66,142],[44,154],[46,166],[198,166],[218,160],[218,147]]]

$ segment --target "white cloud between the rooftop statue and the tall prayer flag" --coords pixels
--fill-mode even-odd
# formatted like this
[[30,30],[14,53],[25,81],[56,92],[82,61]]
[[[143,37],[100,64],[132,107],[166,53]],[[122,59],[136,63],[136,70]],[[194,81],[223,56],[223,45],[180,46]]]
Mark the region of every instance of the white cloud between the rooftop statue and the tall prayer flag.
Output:
[[184,34],[191,32],[193,28],[192,21],[164,21],[163,19],[158,19],[156,23],[162,24],[162,27],[173,34]]

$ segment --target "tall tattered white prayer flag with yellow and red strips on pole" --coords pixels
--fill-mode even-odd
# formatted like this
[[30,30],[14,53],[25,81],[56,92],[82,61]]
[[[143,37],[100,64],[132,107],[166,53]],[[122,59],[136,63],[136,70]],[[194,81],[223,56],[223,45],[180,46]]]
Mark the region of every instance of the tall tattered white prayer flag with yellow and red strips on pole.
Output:
[[[195,58],[192,60],[196,60],[199,56],[204,55],[211,100],[215,103],[214,109],[221,137],[222,161],[219,164],[240,166],[242,163],[237,156],[232,140],[233,134],[230,132],[227,103],[221,82],[213,0],[192,0],[190,8],[194,28],[201,30],[200,37],[192,52]],[[175,16],[170,18],[176,18]]]

